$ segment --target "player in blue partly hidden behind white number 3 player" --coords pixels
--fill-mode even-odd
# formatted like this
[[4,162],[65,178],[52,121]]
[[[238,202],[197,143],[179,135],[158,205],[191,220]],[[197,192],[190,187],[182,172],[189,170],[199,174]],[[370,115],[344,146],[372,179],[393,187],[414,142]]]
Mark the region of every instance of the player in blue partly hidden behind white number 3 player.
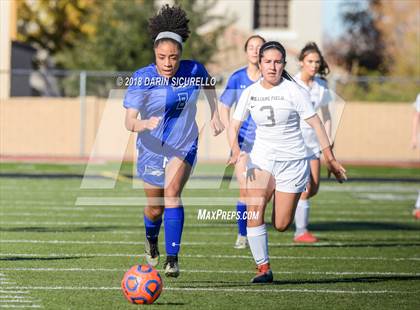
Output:
[[[226,128],[229,127],[230,109],[234,106],[241,97],[242,92],[249,85],[255,83],[261,76],[258,67],[258,52],[261,45],[265,43],[264,38],[259,35],[250,36],[244,46],[247,56],[248,65],[235,71],[229,78],[225,90],[220,96],[220,117]],[[255,139],[255,122],[251,115],[243,122],[239,130],[238,143],[241,148],[241,157],[235,164],[235,174],[239,184],[239,200],[236,204],[236,211],[238,214],[238,237],[235,242],[236,249],[244,249],[247,247],[246,238],[246,222],[243,218],[246,211],[246,163],[248,161],[248,154],[251,152]]]

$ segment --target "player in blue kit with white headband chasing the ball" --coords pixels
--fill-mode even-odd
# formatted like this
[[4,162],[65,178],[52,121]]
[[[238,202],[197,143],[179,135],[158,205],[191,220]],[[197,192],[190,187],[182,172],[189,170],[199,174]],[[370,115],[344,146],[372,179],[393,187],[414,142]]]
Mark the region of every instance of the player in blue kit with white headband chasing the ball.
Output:
[[178,253],[184,224],[181,193],[197,155],[195,116],[201,87],[210,105],[213,134],[224,129],[214,85],[205,67],[193,60],[180,60],[183,42],[190,33],[188,22],[185,11],[169,5],[150,19],[155,63],[133,74],[124,98],[125,126],[138,132],[137,173],[144,181],[147,196],[146,260],[152,266],[159,263],[158,235],[165,213],[165,274],[170,277],[179,276]]

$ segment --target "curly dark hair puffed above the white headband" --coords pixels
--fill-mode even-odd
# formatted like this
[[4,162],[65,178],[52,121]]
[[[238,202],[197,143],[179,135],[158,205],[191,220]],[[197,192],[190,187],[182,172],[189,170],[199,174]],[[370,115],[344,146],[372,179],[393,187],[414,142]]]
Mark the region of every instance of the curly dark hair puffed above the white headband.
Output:
[[[181,7],[170,7],[168,4],[166,4],[161,7],[155,16],[149,19],[150,36],[154,41],[160,32],[171,31],[180,35],[182,37],[182,42],[185,42],[190,35],[190,29],[188,28],[189,21],[190,20],[188,19],[187,14]],[[161,40],[155,42],[155,46],[159,42],[161,42]]]

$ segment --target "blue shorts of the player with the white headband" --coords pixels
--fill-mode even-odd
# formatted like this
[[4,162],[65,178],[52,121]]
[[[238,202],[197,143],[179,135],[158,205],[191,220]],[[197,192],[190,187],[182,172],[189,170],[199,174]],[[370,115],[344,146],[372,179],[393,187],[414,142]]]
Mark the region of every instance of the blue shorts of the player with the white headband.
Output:
[[189,152],[180,152],[177,156],[165,156],[156,154],[146,148],[139,148],[137,157],[137,175],[144,182],[165,187],[165,167],[168,162],[178,157],[194,167],[197,159],[197,148],[193,146]]

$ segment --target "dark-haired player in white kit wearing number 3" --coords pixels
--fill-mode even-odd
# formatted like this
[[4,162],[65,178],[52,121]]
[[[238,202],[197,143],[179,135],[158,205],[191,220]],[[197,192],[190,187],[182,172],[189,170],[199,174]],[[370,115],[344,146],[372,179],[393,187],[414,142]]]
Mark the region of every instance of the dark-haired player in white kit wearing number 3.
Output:
[[232,148],[230,163],[238,161],[241,150],[238,132],[249,114],[257,129],[249,155],[247,171],[247,236],[257,265],[252,283],[273,281],[264,224],[265,207],[273,191],[275,205],[272,224],[285,231],[293,221],[300,195],[309,180],[309,158],[300,129],[300,120],[310,124],[318,137],[328,170],[339,182],[346,179],[345,169],[335,160],[325,128],[315,113],[308,92],[292,81],[284,70],[286,51],[274,41],[264,43],[259,52],[262,79],[241,95],[229,128]]

